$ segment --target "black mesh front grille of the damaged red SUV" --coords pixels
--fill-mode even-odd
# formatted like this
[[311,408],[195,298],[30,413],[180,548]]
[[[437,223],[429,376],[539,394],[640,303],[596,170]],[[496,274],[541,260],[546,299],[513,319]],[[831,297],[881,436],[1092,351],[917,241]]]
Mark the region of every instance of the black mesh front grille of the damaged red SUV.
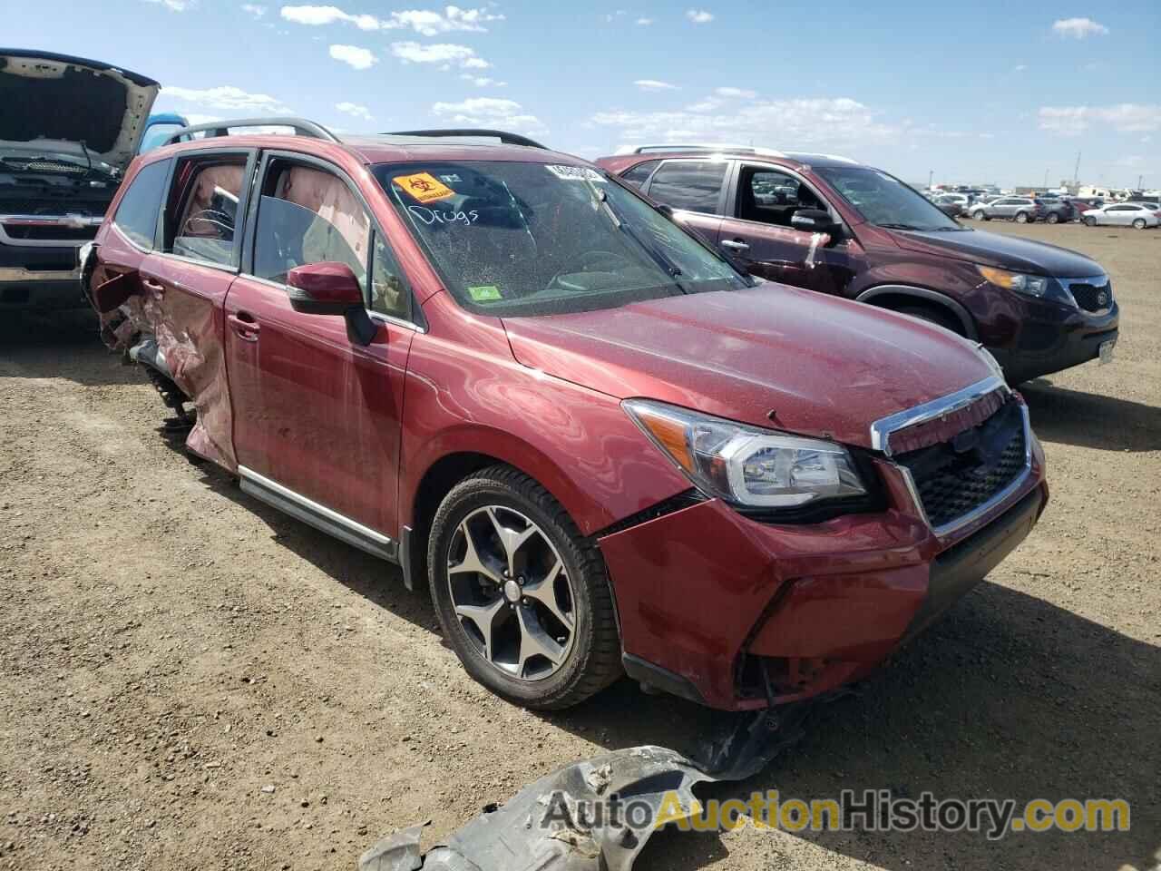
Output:
[[1024,415],[1016,402],[951,441],[901,454],[931,526],[946,526],[995,498],[1027,466]]

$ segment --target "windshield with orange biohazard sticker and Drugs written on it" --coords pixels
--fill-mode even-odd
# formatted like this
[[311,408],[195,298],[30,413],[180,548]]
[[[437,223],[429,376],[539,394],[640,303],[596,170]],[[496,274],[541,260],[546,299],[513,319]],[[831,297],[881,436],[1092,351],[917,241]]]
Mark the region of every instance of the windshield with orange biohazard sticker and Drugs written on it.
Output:
[[752,283],[589,167],[426,160],[373,171],[471,311],[560,314]]

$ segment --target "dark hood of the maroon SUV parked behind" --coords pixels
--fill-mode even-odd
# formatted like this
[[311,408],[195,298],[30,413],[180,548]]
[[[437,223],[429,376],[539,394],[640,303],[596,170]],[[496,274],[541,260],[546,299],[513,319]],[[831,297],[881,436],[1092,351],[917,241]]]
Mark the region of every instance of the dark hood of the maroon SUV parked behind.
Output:
[[1104,272],[1096,260],[1075,251],[1018,236],[1001,236],[980,230],[931,233],[895,231],[893,236],[895,243],[907,251],[951,257],[1012,272],[1069,279],[1101,275]]

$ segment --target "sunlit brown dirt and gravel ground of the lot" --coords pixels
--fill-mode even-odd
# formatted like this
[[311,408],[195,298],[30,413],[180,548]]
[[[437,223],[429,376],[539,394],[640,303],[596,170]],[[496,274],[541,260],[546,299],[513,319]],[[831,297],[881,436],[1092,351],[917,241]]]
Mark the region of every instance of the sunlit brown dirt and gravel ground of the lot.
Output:
[[[1161,848],[1161,232],[991,223],[1113,278],[1110,366],[1025,388],[1052,503],[988,582],[744,784],[1119,797],[1132,830],[663,832],[636,868],[1110,869]],[[605,748],[715,715],[622,682],[538,715],[471,683],[395,569],[193,466],[85,324],[0,327],[0,868],[353,869]]]

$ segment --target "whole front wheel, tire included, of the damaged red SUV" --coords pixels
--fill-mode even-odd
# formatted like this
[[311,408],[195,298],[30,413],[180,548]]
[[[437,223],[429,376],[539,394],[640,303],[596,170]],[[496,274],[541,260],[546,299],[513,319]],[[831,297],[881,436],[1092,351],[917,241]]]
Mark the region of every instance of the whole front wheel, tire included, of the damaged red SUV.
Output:
[[452,488],[427,566],[445,639],[497,696],[560,710],[621,675],[605,561],[527,475],[492,466]]

